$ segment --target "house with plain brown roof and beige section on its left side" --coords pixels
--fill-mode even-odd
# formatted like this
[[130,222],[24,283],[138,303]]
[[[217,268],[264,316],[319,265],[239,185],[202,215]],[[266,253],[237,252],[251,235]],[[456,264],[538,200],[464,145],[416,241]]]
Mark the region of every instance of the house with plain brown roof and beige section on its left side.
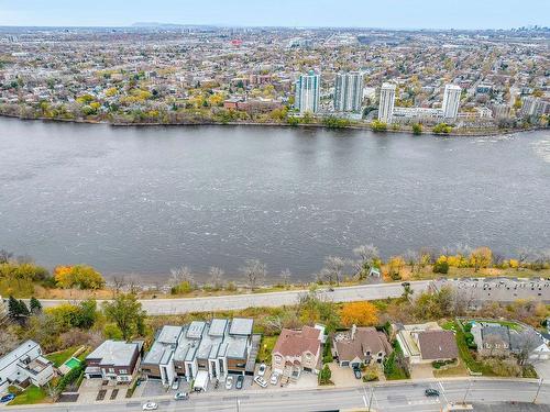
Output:
[[397,342],[410,364],[451,360],[459,357],[452,331],[443,331],[436,322],[397,326]]

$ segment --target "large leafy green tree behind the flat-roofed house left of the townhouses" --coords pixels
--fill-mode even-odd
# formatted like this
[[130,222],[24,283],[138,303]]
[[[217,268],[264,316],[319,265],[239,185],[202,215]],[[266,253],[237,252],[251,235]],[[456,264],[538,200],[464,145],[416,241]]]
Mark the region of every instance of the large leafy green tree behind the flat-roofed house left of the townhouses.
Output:
[[112,301],[103,303],[103,312],[107,319],[114,322],[128,341],[136,333],[142,333],[145,312],[135,294],[120,293]]

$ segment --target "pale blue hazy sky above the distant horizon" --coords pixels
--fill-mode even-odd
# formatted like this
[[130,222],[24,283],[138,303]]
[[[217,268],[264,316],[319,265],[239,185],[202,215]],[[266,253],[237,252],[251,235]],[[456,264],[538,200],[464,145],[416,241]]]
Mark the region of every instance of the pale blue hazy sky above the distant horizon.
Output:
[[0,25],[135,22],[507,29],[550,25],[550,0],[0,0]]

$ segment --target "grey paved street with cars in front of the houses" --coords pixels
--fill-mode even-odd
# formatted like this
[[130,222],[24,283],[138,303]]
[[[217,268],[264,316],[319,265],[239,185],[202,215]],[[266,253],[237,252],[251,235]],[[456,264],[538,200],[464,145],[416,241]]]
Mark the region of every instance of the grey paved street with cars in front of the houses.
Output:
[[[453,379],[422,382],[389,382],[373,386],[373,392],[365,385],[353,389],[311,389],[311,390],[250,390],[238,392],[193,393],[189,401],[176,402],[168,397],[152,399],[158,403],[160,411],[329,411],[371,407],[376,411],[440,411],[448,402],[501,404],[502,402],[532,402],[538,390],[537,381]],[[435,388],[441,393],[439,399],[426,398],[425,389]],[[468,392],[468,393],[466,393]],[[231,393],[231,394],[229,394]],[[36,407],[10,407],[9,411],[31,412],[47,410],[52,412],[120,412],[141,411],[145,400],[110,403],[108,401],[87,405],[56,404]],[[550,385],[542,385],[538,403],[550,404]],[[504,407],[503,407],[504,408]]]

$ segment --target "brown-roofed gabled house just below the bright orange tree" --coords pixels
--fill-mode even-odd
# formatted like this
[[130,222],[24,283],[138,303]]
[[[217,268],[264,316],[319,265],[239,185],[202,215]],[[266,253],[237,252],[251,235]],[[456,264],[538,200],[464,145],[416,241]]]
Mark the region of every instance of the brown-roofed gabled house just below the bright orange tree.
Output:
[[358,327],[337,333],[332,347],[340,366],[360,367],[361,365],[383,364],[392,353],[392,345],[384,332],[374,327]]

